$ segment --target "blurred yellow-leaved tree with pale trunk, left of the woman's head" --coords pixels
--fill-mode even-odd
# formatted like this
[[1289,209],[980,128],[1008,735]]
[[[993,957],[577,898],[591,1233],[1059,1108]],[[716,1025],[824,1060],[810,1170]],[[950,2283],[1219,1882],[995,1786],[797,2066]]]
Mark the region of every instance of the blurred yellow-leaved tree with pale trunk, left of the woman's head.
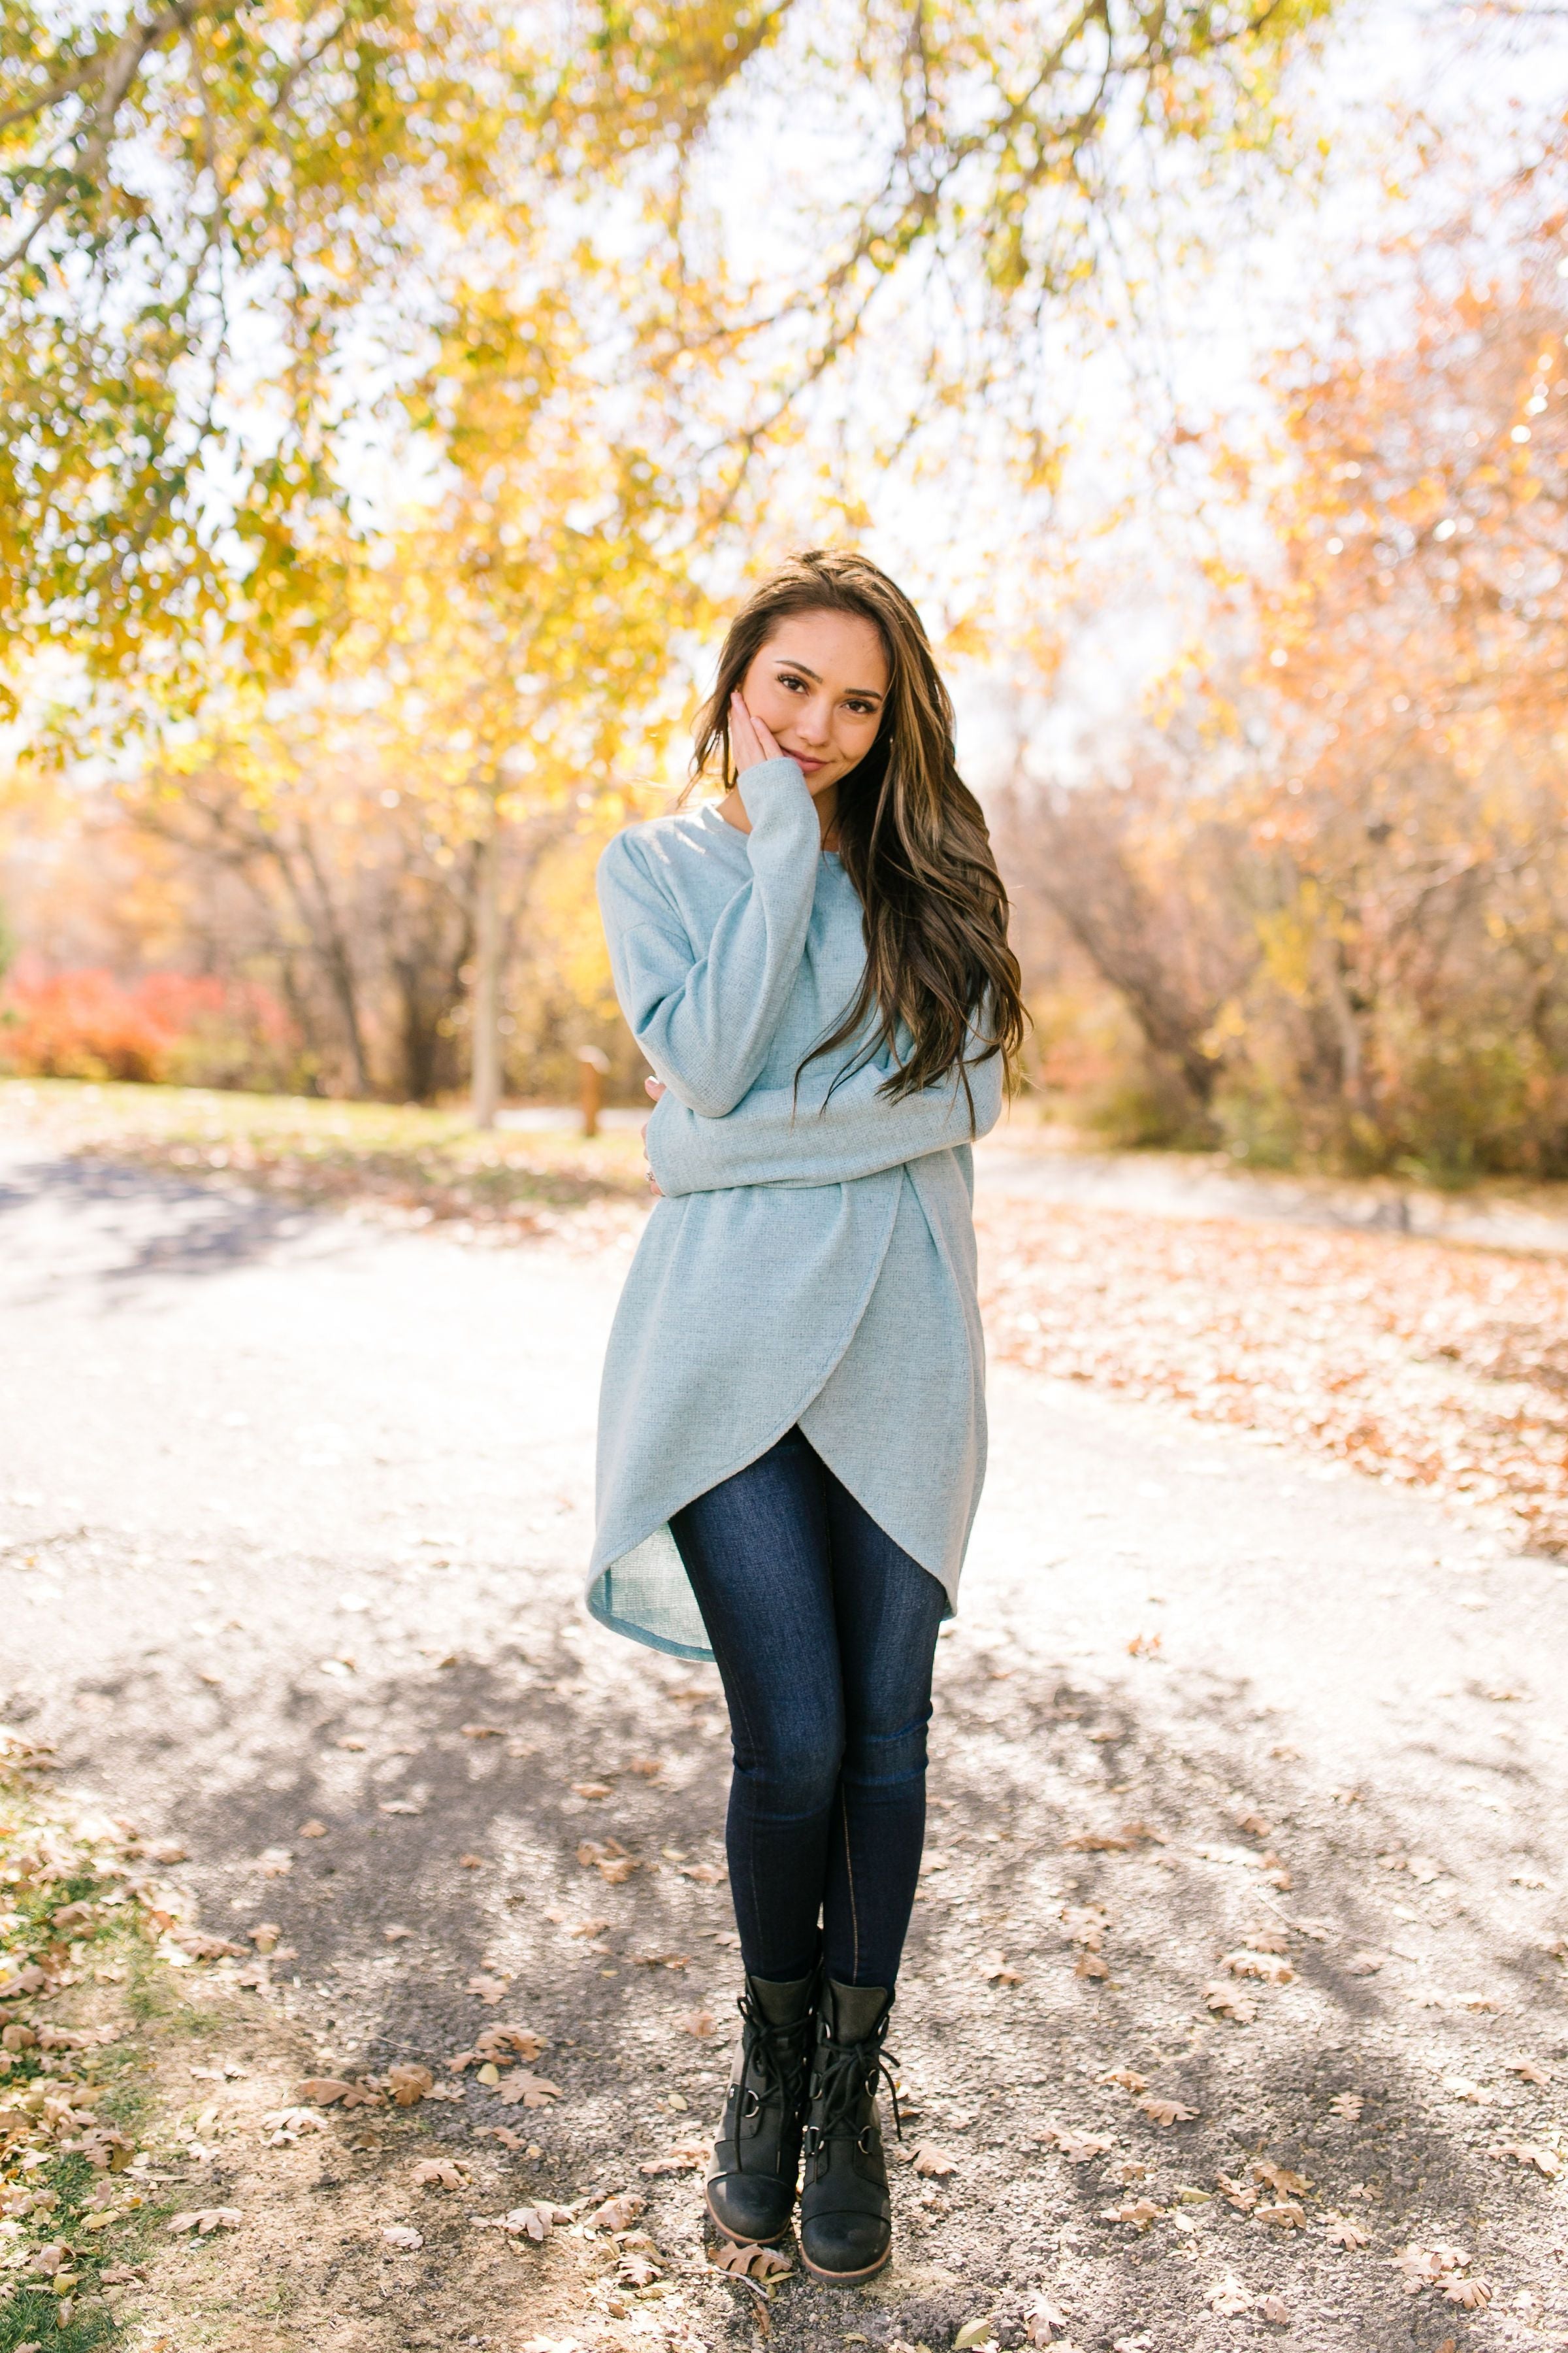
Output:
[[642,814],[628,779],[679,713],[670,633],[703,619],[663,551],[668,485],[571,360],[567,327],[475,294],[461,362],[428,386],[444,489],[346,569],[331,656],[287,694],[230,680],[207,732],[125,788],[139,824],[244,885],[329,1082],[425,1099],[461,1038],[482,1125],[536,880]]

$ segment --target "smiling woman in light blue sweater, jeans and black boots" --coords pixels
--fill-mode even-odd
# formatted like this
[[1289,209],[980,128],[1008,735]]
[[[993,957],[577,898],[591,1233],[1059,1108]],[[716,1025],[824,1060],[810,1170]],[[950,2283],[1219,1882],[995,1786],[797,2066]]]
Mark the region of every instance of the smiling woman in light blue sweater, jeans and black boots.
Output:
[[863,555],[745,605],[715,767],[717,807],[599,866],[661,1200],[604,1365],[588,1605],[717,1659],[729,1701],[745,1991],[712,2219],[783,2238],[802,2172],[806,2268],[853,2282],[891,2252],[877,2080],[985,1468],[969,1144],[1023,1005],[952,704]]

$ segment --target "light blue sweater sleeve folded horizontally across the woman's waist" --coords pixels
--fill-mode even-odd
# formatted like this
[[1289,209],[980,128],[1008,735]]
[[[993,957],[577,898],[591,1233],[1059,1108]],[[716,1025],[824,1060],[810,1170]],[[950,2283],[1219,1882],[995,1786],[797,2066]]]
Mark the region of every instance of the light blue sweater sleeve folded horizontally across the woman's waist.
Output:
[[[985,1040],[976,1040],[976,1054],[983,1052]],[[830,1092],[832,1073],[809,1064],[799,1092],[755,1087],[726,1118],[701,1118],[665,1094],[646,1132],[654,1181],[670,1198],[752,1184],[851,1184],[971,1144],[1001,1118],[1001,1054],[964,1059],[973,1129],[957,1071],[919,1094],[889,1101],[879,1087],[891,1068],[882,1052]]]

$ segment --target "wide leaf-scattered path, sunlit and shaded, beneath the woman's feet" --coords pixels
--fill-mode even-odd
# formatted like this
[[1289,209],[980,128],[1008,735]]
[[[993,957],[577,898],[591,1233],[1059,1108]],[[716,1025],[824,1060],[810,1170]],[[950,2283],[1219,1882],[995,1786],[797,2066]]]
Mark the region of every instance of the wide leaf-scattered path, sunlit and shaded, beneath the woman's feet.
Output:
[[[1011,1369],[940,1647],[898,2266],[703,2268],[724,1725],[712,1671],[578,1612],[599,1240],[388,1235],[26,1139],[0,1169],[0,1713],[183,1840],[209,1927],[277,1925],[270,1984],[181,1995],[266,2099],[397,2061],[463,2094],[268,2151],[235,2092],[167,2162],[244,2228],[127,2341],[1568,2344],[1568,1572]],[[545,2045],[531,2106],[447,2071],[498,2024]],[[416,2186],[442,2155],[465,2179]],[[632,2238],[590,2231],[621,2191]],[[576,2207],[543,2245],[473,2219],[541,2202]]]

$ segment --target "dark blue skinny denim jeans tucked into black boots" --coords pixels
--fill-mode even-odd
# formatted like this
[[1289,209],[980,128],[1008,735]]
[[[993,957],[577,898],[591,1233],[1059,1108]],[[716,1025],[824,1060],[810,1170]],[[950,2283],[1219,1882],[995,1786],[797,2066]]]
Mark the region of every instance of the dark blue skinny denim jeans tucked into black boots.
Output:
[[672,1522],[729,1701],[729,1880],[752,1977],[893,1986],[926,1833],[943,1586],[790,1431]]

